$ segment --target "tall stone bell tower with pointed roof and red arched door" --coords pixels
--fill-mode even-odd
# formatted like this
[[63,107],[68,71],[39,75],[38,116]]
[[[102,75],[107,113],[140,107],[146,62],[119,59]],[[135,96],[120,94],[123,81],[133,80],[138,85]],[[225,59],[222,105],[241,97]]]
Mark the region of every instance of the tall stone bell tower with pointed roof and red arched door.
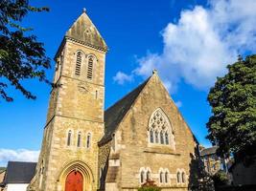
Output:
[[[85,11],[58,48],[40,156],[31,190],[98,189],[98,141],[104,136],[107,46]],[[77,183],[76,183],[77,182]]]

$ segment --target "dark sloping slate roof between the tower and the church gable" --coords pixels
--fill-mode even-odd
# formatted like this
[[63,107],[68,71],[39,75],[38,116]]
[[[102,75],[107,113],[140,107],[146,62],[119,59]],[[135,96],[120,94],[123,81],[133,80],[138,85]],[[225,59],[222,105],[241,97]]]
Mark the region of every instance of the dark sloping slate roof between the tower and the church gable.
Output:
[[105,110],[105,136],[100,140],[99,144],[105,143],[112,138],[113,133],[117,129],[123,117],[126,116],[137,96],[140,95],[143,88],[146,86],[150,77],[140,84],[137,88],[128,93],[111,107]]

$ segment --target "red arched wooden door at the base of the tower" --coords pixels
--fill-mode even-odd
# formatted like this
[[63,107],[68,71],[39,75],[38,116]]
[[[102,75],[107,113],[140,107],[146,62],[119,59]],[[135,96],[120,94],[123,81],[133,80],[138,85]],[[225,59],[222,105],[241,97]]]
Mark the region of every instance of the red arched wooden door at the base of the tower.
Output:
[[82,191],[82,176],[79,171],[68,174],[65,183],[65,191]]

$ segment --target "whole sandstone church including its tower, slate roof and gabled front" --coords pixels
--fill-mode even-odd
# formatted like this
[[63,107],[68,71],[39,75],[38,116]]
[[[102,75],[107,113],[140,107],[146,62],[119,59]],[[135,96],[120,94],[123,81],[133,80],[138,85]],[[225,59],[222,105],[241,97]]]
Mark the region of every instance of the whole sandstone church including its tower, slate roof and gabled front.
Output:
[[56,53],[35,177],[28,190],[162,190],[196,184],[198,141],[156,71],[105,108],[105,40],[85,11]]

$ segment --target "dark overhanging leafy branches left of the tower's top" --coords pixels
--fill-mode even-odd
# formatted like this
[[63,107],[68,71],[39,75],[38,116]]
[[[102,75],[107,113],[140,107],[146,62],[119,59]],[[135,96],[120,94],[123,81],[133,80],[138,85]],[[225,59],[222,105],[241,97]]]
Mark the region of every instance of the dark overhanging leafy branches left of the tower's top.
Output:
[[48,11],[47,8],[30,6],[29,0],[0,1],[0,96],[12,101],[7,94],[9,85],[21,91],[27,98],[35,99],[22,85],[22,80],[36,78],[50,83],[45,70],[50,68],[50,59],[45,55],[43,44],[37,42],[32,29],[21,26],[29,12]]

